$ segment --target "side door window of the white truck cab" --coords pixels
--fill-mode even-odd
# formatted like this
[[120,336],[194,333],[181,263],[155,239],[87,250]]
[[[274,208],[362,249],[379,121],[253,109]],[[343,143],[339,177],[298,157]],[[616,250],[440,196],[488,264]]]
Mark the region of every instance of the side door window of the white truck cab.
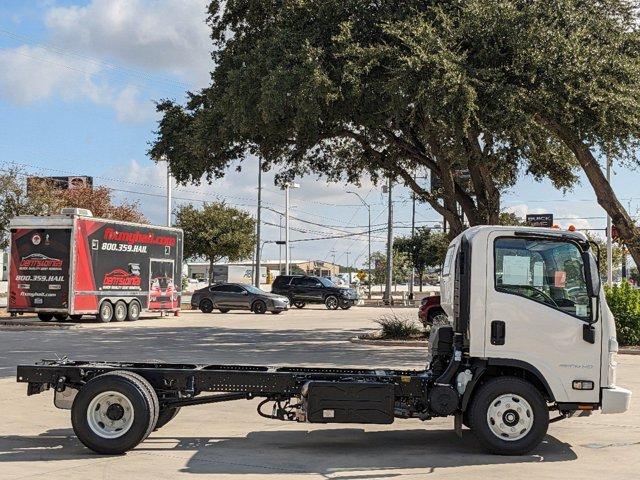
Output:
[[582,256],[565,241],[498,238],[495,241],[495,288],[591,319]]

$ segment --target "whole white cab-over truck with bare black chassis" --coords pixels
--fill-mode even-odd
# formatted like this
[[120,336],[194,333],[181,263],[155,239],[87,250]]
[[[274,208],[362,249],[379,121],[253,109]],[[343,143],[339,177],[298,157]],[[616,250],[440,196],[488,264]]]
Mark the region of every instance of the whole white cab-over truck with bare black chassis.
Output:
[[441,295],[450,324],[432,332],[424,370],[64,359],[21,365],[17,377],[28,395],[53,388],[78,438],[103,454],[134,448],[182,407],[240,399],[297,422],[453,416],[458,434],[466,425],[507,455],[535,449],[550,422],[628,409],[614,321],[582,234],[470,228],[449,246]]

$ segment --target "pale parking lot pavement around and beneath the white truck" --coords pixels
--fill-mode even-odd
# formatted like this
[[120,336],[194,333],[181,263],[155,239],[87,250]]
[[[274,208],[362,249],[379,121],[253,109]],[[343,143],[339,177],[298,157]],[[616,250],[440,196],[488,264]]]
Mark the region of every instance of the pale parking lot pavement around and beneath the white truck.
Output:
[[[69,412],[50,392],[26,397],[15,365],[69,355],[78,359],[422,368],[425,352],[348,342],[375,327],[379,308],[282,315],[184,312],[131,324],[0,329],[0,478],[638,478],[640,356],[619,356],[618,383],[634,390],[625,415],[594,414],[551,425],[523,457],[485,455],[448,419],[388,426],[311,426],[267,420],[254,401],[183,409],[137,449],[99,456],[74,437]],[[414,310],[401,314],[413,315]]]

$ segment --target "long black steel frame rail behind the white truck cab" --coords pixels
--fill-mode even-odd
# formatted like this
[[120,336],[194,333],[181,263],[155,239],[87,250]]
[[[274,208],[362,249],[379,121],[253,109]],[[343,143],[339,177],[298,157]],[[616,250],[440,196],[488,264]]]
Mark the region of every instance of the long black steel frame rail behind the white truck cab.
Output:
[[425,370],[43,360],[19,365],[17,380],[29,383],[27,392],[31,395],[49,387],[58,390],[65,386],[81,388],[93,377],[115,370],[137,373],[159,395],[169,397],[177,392],[188,397],[202,392],[226,392],[244,395],[238,398],[289,398],[300,395],[303,385],[314,380],[391,383],[397,398],[424,398],[426,383],[431,379]]

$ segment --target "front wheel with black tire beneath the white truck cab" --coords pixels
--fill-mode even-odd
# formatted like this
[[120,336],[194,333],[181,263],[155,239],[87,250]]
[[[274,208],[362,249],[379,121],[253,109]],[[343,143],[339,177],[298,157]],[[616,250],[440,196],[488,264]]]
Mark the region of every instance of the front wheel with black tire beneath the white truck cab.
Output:
[[[505,408],[504,412],[502,408]],[[521,410],[516,412],[516,409]],[[491,412],[496,413],[498,422],[490,415]],[[513,427],[509,426],[508,421],[514,422]],[[527,422],[529,427],[523,428]],[[524,455],[536,448],[546,435],[549,409],[542,394],[529,382],[516,377],[492,378],[474,395],[469,410],[469,425],[489,453]],[[506,433],[499,436],[492,429]],[[513,437],[509,439],[509,435]],[[523,436],[518,438],[518,435]]]

